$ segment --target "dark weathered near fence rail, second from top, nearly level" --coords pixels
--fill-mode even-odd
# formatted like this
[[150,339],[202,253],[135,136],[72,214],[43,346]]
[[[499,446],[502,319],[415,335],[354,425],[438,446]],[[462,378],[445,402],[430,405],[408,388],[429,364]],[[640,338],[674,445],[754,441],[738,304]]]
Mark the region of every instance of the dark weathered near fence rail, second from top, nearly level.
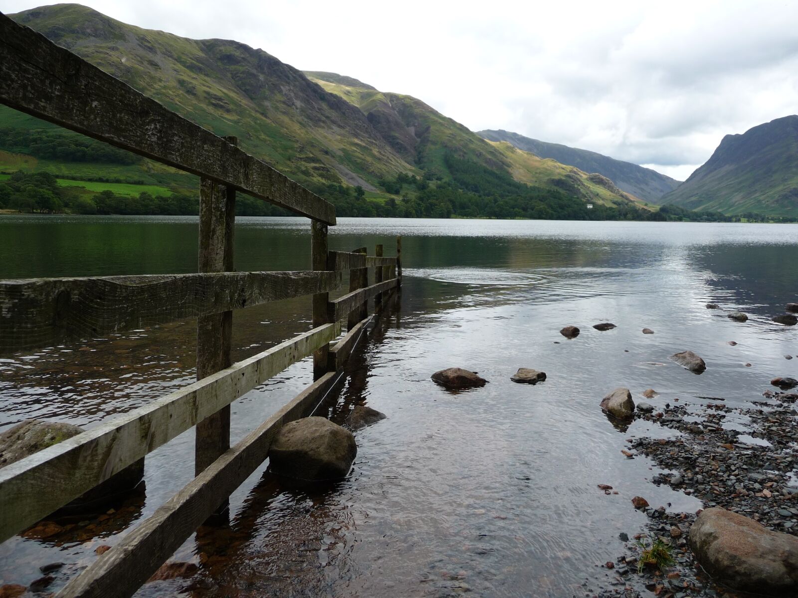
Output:
[[325,293],[340,272],[223,272],[0,281],[0,354]]

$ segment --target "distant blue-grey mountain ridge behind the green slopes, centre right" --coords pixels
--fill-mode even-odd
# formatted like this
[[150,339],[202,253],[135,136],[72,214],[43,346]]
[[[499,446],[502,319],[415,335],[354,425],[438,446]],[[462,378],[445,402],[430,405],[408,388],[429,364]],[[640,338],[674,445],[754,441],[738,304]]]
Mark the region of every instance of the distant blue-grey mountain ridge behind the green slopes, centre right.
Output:
[[673,191],[679,185],[679,181],[671,179],[670,176],[661,175],[657,171],[637,164],[597,154],[595,151],[549,144],[502,130],[480,131],[477,135],[483,136],[486,140],[507,141],[516,148],[529,151],[540,158],[555,159],[557,162],[575,166],[581,171],[597,172],[610,179],[621,191],[626,191],[626,193],[651,203],[659,203],[662,195]]

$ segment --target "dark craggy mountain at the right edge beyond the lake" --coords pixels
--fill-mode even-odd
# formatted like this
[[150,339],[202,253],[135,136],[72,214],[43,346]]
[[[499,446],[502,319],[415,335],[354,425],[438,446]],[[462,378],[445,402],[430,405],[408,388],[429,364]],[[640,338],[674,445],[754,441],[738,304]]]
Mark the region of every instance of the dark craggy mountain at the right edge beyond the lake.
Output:
[[712,157],[662,203],[724,214],[798,216],[798,116],[725,136]]

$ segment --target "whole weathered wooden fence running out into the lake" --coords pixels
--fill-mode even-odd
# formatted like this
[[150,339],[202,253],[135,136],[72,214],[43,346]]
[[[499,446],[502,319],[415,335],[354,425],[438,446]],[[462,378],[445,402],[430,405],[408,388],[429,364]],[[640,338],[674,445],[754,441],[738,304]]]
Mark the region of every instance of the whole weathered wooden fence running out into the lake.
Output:
[[[330,390],[370,321],[401,285],[397,255],[330,251],[330,203],[223,138],[0,14],[0,103],[201,177],[199,273],[0,281],[0,354],[197,318],[197,381],[0,469],[0,541],[196,427],[196,477],[58,592],[131,596],[267,458],[284,423]],[[311,219],[310,270],[235,272],[237,192]],[[368,271],[375,272],[369,285]],[[349,293],[330,300],[349,272]],[[234,309],[312,295],[313,329],[231,363]],[[347,321],[346,336],[336,340]],[[313,354],[314,383],[230,447],[230,404]]]

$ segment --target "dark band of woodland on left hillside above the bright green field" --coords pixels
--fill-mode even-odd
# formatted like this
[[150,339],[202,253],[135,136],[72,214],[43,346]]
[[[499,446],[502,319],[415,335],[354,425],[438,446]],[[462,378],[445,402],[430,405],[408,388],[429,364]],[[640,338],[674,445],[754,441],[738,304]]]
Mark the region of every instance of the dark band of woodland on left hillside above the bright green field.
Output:
[[129,151],[58,129],[33,131],[0,128],[0,148],[17,154],[66,162],[137,164],[141,161],[140,156]]

